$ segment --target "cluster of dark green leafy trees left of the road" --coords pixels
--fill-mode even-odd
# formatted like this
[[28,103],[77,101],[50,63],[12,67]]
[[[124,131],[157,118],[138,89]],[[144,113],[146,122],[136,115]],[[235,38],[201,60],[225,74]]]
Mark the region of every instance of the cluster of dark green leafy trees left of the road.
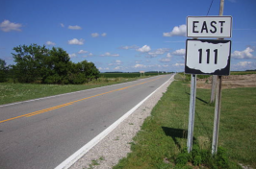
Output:
[[99,78],[94,63],[74,63],[62,48],[47,49],[37,44],[13,48],[15,64],[0,59],[0,82],[12,77],[13,82],[40,84],[84,84]]

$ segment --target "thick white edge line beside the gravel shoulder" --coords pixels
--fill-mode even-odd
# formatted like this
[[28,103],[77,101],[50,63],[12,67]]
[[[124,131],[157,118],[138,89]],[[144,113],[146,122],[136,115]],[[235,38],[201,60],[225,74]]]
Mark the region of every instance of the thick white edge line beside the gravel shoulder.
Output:
[[[172,75],[167,81],[170,81],[171,78],[173,78],[174,75]],[[165,83],[165,84],[166,84]],[[151,94],[149,94],[146,98],[144,98],[137,106],[135,106],[133,109],[130,109],[127,111],[123,116],[121,116],[118,120],[116,120],[110,127],[108,127],[106,130],[104,130],[102,133],[99,133],[97,136],[95,136],[93,139],[90,140],[86,145],[84,145],[82,148],[80,148],[77,152],[75,152],[70,157],[67,157],[61,164],[59,164],[55,169],[67,169],[71,165],[73,165],[78,159],[83,157],[86,153],[90,151],[92,147],[94,147],[97,143],[99,143],[105,136],[107,136],[109,133],[111,133],[115,128],[124,121],[129,115],[131,115],[136,109],[138,109],[151,95],[153,95],[159,88],[161,88],[163,85],[158,87],[155,91],[153,91]]]

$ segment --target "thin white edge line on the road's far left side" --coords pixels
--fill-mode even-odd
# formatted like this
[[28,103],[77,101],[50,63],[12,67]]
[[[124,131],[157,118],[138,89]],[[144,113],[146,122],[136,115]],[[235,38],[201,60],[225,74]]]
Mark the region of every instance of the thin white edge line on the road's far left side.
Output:
[[[149,77],[149,78],[153,78],[153,77]],[[147,78],[145,78],[145,79],[147,79]],[[140,80],[144,80],[144,79],[139,79],[139,80],[136,80],[136,81],[140,81]],[[130,81],[130,82],[120,83],[120,84],[128,84],[128,83],[133,83],[133,82],[136,82],[136,81]],[[74,94],[74,93],[80,93],[80,92],[84,92],[84,91],[90,91],[90,90],[94,90],[94,89],[98,89],[98,88],[104,88],[104,87],[108,87],[108,86],[114,86],[114,85],[119,85],[119,84],[104,85],[104,86],[99,86],[99,87],[95,87],[95,88],[89,88],[89,89],[73,91],[73,92],[64,93],[64,94],[58,94],[58,95],[54,95],[54,96],[46,96],[46,97],[41,97],[41,98],[38,98],[38,99],[32,99],[32,100],[27,100],[27,101],[15,102],[15,103],[12,103],[12,104],[1,105],[0,108],[8,107],[8,106],[13,106],[13,105],[18,105],[18,104],[23,104],[23,103],[28,103],[28,102],[34,102],[34,101],[43,100],[43,99],[49,99],[49,98],[64,96],[64,95],[68,95],[68,94]]]

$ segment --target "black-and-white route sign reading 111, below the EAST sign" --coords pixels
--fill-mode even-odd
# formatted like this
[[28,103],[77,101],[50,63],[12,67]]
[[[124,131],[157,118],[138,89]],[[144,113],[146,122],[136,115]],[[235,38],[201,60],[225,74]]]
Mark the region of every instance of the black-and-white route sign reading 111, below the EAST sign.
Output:
[[231,40],[187,39],[185,73],[229,75]]

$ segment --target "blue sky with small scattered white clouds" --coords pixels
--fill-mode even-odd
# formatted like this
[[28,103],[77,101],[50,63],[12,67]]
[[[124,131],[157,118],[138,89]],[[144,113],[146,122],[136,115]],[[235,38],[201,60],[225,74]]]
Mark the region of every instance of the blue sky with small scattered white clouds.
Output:
[[[63,48],[101,72],[184,71],[187,16],[218,15],[220,0],[0,0],[0,59],[13,47]],[[212,6],[211,6],[212,4]],[[211,8],[210,8],[211,7]],[[256,69],[256,0],[224,0],[231,71]]]

